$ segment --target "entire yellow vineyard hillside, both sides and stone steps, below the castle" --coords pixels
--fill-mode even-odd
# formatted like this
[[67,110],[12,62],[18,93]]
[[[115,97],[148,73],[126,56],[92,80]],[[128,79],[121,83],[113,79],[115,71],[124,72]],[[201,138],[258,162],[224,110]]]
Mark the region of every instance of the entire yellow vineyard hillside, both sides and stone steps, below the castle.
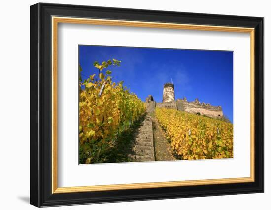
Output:
[[112,81],[120,63],[94,62],[97,74],[84,80],[79,66],[80,164],[154,160],[152,145],[161,160],[233,158],[233,124],[163,107],[148,114],[123,81]]

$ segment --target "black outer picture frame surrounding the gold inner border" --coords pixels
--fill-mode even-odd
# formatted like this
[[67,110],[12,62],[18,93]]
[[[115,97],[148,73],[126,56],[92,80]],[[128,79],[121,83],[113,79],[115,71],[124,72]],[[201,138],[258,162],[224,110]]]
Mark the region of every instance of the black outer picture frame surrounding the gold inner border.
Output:
[[[255,181],[52,194],[51,16],[255,29]],[[37,3],[30,6],[30,204],[37,207],[264,192],[264,18]]]

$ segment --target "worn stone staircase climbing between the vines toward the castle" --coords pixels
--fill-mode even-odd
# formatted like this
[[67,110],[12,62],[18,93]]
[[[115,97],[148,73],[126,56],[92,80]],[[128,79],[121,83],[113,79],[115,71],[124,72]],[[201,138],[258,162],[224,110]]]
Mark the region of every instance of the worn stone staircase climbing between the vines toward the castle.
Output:
[[152,121],[148,113],[134,134],[132,151],[128,157],[132,162],[155,161]]

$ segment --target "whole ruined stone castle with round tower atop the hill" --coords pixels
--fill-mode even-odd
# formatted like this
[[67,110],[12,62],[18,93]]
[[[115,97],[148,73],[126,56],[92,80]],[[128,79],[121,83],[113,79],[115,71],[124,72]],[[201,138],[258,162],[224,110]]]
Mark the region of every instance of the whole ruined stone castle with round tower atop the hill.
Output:
[[198,98],[195,101],[188,102],[184,97],[183,99],[175,100],[174,84],[166,83],[163,88],[162,103],[154,101],[153,96],[149,95],[146,98],[147,112],[152,112],[155,107],[164,107],[169,109],[176,109],[197,115],[205,115],[211,118],[222,118],[223,111],[221,106],[212,106],[209,103],[200,102]]

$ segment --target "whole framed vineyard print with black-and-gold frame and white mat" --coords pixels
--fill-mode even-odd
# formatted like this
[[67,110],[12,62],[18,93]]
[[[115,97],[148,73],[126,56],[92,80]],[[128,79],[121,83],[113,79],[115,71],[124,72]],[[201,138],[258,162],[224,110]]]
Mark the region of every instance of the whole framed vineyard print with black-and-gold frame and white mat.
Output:
[[30,203],[264,191],[264,19],[30,7]]

